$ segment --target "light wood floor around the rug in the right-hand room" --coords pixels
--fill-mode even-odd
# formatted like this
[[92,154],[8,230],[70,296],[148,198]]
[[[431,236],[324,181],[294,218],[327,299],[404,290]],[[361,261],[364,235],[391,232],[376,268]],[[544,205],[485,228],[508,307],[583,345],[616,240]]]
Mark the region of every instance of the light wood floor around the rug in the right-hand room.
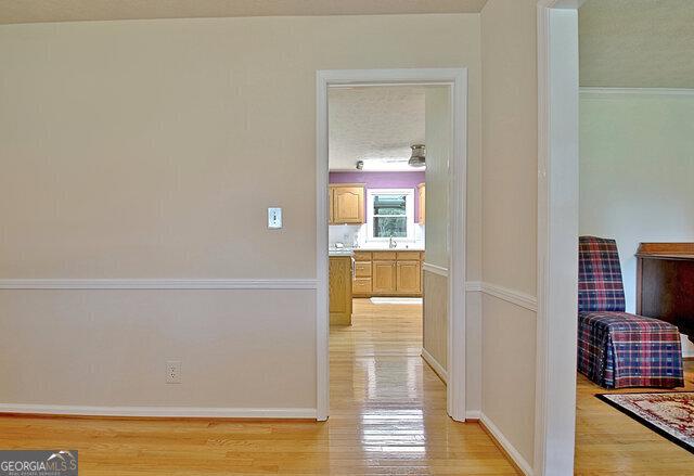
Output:
[[[694,390],[694,362],[684,362],[684,388]],[[578,374],[576,417],[577,475],[694,475],[694,454],[659,436],[595,394],[665,391],[605,390]]]

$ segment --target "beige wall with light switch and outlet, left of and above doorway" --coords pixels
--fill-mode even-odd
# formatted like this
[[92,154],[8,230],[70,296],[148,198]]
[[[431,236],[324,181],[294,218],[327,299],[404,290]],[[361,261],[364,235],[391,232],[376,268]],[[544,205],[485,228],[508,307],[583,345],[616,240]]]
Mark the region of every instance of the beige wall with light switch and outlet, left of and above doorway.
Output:
[[[479,168],[479,53],[476,14],[0,26],[0,280],[313,280],[316,70],[467,66]],[[0,402],[316,407],[311,290],[2,291],[0,311]]]

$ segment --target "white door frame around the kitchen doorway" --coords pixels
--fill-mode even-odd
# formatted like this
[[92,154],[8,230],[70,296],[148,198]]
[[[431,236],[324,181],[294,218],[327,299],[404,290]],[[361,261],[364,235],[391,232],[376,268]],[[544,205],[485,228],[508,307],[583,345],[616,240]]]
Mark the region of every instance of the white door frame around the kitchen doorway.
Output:
[[465,420],[465,190],[467,68],[332,69],[316,73],[316,417],[327,420],[330,396],[327,297],[327,88],[338,85],[451,86],[453,154],[449,164],[448,414]]

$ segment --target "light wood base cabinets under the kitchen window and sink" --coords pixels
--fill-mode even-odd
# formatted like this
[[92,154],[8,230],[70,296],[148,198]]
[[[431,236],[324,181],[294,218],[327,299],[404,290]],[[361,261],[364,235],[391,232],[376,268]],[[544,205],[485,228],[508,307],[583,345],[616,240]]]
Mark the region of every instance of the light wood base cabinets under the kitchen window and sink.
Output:
[[421,296],[422,252],[355,252],[357,297]]

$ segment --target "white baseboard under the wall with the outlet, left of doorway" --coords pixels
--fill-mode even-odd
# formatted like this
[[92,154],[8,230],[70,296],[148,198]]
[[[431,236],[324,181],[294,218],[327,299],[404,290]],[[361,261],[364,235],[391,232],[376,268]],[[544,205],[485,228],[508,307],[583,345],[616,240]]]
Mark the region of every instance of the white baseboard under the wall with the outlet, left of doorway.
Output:
[[208,417],[208,419],[316,419],[316,409],[202,408],[202,407],[82,407],[0,403],[0,413],[75,416]]

